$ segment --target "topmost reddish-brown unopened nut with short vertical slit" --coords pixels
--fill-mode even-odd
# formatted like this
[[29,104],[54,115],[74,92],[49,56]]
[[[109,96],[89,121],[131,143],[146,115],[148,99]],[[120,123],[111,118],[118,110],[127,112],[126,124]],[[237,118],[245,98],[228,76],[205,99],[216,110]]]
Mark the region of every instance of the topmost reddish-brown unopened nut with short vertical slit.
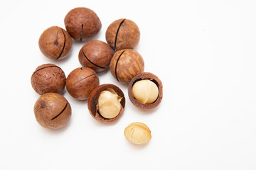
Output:
[[102,27],[100,18],[90,8],[73,8],[64,19],[65,28],[71,37],[86,41],[94,37]]

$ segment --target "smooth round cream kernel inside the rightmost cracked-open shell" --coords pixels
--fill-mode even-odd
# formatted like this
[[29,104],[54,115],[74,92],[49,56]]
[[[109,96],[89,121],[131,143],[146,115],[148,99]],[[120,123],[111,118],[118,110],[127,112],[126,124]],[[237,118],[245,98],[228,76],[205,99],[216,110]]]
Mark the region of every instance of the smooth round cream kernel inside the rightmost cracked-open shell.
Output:
[[132,86],[132,94],[142,104],[151,104],[159,96],[159,89],[153,81],[144,79],[137,81]]

